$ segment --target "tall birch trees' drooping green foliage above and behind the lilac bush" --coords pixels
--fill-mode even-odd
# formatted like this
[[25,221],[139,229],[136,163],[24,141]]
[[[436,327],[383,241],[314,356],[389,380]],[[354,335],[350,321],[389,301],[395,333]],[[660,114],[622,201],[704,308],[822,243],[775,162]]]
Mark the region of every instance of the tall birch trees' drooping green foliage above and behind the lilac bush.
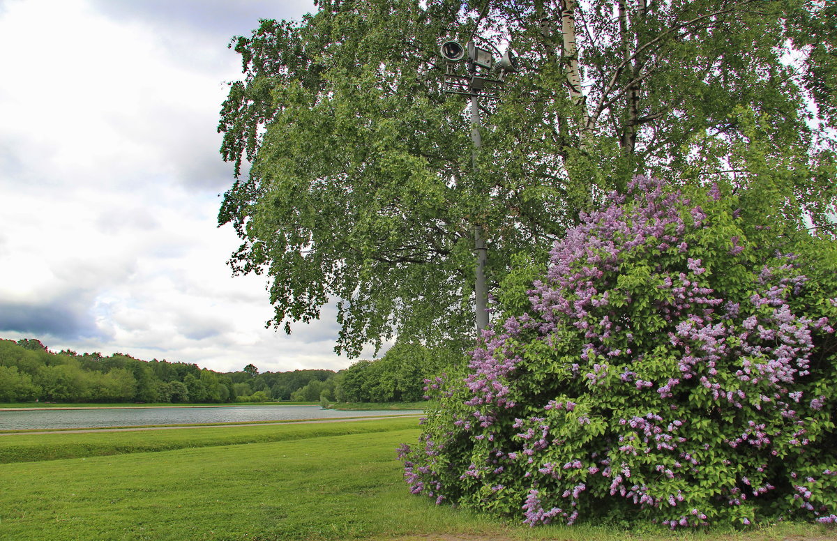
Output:
[[[339,299],[337,350],[357,355],[393,336],[466,344],[473,228],[485,233],[496,289],[512,258],[541,256],[637,172],[728,185],[747,219],[829,223],[829,3],[318,8],[234,40],[244,76],[218,125],[224,158],[237,171],[245,158],[253,164],[225,193],[218,221],[242,239],[234,272],[269,277],[271,324],[290,331]],[[479,174],[465,98],[441,91],[438,54],[442,39],[471,36],[487,48],[511,43],[521,65],[498,100],[483,100]]]

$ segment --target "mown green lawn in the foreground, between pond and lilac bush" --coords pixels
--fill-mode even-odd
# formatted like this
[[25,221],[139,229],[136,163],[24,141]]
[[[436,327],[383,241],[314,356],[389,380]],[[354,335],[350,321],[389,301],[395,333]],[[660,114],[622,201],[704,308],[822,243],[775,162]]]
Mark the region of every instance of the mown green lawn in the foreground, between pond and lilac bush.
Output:
[[[530,529],[411,497],[394,447],[418,435],[415,418],[404,418],[0,436],[0,539],[672,538],[655,529]],[[837,533],[785,524],[686,538],[822,541]]]

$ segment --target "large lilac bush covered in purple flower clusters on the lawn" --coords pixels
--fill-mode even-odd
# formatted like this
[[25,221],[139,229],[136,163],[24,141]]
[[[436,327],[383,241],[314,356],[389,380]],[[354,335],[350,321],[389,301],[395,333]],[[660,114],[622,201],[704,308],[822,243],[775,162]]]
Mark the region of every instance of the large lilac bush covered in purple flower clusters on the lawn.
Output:
[[531,525],[837,521],[834,242],[738,204],[639,176],[511,273],[428,381],[411,492]]

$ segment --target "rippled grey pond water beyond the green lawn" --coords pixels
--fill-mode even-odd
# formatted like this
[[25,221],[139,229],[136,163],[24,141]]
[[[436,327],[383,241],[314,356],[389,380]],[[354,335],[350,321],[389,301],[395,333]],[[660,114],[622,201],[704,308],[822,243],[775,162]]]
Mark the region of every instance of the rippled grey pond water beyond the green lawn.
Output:
[[320,406],[219,406],[162,407],[124,410],[27,410],[0,411],[0,430],[28,428],[96,428],[100,426],[182,425],[235,421],[333,419],[356,416],[390,416],[408,411],[337,411]]

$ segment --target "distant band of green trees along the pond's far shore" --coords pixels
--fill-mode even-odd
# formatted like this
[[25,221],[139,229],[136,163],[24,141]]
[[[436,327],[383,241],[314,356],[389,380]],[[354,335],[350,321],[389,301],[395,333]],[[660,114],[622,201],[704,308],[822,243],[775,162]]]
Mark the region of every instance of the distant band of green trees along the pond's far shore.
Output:
[[346,370],[218,373],[198,365],[121,353],[50,351],[37,339],[0,339],[0,402],[420,401],[424,379],[454,352],[395,345]]

